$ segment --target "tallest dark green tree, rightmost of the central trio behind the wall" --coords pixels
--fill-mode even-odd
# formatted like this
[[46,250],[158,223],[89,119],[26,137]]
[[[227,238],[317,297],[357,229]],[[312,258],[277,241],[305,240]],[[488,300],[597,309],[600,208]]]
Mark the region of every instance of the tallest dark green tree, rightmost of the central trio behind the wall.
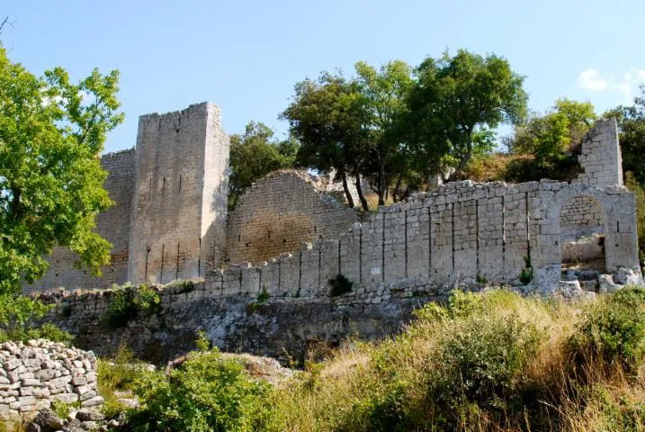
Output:
[[[457,55],[426,58],[408,97],[408,128],[417,162],[436,172],[452,167],[459,178],[470,158],[489,146],[479,133],[524,119],[524,77],[508,61],[460,49]],[[481,136],[480,136],[481,137]],[[434,173],[430,173],[434,174]]]

